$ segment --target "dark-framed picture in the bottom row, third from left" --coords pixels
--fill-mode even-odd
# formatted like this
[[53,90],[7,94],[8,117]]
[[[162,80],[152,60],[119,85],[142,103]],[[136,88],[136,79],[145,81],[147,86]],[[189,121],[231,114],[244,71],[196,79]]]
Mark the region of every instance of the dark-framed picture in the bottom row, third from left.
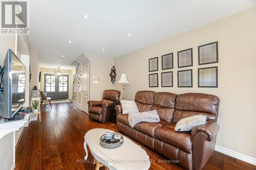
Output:
[[178,87],[193,87],[192,69],[178,71]]

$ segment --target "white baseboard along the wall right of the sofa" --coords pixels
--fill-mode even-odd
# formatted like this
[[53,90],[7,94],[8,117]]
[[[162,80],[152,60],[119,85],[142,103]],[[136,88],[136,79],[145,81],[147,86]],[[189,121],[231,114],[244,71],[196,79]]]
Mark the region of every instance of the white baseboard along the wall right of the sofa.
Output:
[[215,145],[215,150],[218,151],[218,152],[221,152],[223,154],[226,154],[228,156],[231,156],[231,157],[240,159],[242,161],[248,162],[250,164],[256,165],[256,158],[253,158],[253,157],[250,157],[250,156],[247,156],[247,155],[244,155],[244,154],[240,154],[238,152],[220,147],[218,145]]

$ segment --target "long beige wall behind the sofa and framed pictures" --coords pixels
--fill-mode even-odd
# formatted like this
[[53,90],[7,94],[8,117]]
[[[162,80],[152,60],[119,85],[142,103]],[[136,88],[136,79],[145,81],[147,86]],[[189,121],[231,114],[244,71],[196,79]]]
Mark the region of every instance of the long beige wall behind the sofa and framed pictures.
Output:
[[[150,35],[149,35],[150,36]],[[219,41],[219,63],[198,66],[198,46]],[[177,52],[193,47],[193,88],[177,87]],[[217,145],[256,158],[256,8],[209,23],[115,58],[117,80],[126,73],[126,99],[138,90],[202,92],[221,100]],[[161,87],[161,55],[174,53],[174,87]],[[148,59],[159,57],[159,87],[148,87]],[[197,68],[218,66],[219,87],[198,88]],[[171,69],[170,69],[171,70]],[[166,70],[164,70],[166,71]],[[120,84],[115,88],[122,90]]]

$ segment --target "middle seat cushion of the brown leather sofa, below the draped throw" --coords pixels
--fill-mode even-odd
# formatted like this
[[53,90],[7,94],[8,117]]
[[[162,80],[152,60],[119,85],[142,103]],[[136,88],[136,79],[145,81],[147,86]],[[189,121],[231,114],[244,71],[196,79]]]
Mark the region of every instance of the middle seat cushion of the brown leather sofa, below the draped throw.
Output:
[[158,123],[149,123],[149,122],[140,122],[136,124],[133,129],[136,129],[137,131],[140,131],[146,135],[149,135],[151,137],[155,136],[156,129],[166,125],[167,123],[163,120],[160,120]]

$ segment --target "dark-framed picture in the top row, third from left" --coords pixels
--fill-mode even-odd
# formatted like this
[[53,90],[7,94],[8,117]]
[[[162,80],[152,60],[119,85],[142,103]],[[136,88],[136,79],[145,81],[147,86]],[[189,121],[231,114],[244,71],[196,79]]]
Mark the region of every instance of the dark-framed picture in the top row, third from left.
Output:
[[193,66],[193,48],[178,52],[178,68]]

